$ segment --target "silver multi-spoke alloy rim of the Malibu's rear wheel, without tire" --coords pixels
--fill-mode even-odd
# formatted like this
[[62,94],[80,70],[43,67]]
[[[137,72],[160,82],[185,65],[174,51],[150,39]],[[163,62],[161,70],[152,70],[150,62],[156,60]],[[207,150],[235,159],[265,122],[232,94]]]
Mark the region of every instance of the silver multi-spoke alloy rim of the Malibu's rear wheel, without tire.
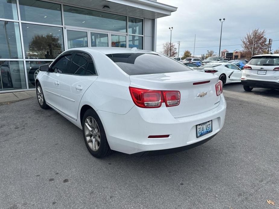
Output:
[[85,119],[84,134],[90,149],[97,151],[100,148],[101,143],[100,129],[97,121],[91,116],[88,116]]

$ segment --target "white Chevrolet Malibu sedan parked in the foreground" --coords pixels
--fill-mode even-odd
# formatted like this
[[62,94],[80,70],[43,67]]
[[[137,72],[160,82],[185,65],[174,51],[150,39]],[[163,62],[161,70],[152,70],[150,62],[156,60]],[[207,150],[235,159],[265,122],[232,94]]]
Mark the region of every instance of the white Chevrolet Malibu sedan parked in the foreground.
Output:
[[73,48],[40,66],[36,92],[83,130],[88,151],[137,156],[201,145],[223,127],[222,82],[153,51]]

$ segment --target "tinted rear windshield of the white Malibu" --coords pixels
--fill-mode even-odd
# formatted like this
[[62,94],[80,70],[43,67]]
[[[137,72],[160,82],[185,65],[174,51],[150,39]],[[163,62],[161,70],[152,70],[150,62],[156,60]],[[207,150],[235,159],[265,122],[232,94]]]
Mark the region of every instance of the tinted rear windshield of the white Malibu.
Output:
[[119,53],[107,56],[130,76],[191,70],[184,64],[159,54]]

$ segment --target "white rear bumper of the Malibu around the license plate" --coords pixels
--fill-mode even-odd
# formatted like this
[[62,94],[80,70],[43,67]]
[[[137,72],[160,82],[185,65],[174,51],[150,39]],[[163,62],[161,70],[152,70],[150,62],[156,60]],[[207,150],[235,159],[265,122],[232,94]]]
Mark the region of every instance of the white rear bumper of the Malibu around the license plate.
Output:
[[[97,111],[97,114],[112,150],[143,156],[182,151],[213,138],[224,125],[226,106],[221,95],[216,108],[186,117],[174,118],[163,105],[161,108],[134,106],[124,115],[105,111]],[[212,132],[197,138],[196,125],[209,120],[212,120]],[[169,137],[148,138],[152,135]]]

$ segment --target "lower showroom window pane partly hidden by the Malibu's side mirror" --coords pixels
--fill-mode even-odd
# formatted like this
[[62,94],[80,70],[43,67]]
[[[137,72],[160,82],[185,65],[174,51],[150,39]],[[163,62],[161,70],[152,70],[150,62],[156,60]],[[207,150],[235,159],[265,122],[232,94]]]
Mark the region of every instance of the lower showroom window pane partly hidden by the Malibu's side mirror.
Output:
[[26,61],[26,70],[27,70],[27,80],[29,89],[34,89],[35,79],[39,73],[39,67],[41,65],[49,65],[52,61]]

